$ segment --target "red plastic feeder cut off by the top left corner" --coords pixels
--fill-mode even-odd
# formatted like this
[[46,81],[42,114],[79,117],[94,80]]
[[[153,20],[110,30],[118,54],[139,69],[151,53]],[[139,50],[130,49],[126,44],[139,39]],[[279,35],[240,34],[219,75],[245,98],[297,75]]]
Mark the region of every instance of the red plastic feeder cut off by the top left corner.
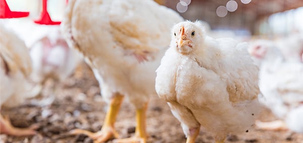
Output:
[[13,12],[11,11],[6,0],[0,0],[0,19],[5,18],[22,18],[28,17],[29,12]]

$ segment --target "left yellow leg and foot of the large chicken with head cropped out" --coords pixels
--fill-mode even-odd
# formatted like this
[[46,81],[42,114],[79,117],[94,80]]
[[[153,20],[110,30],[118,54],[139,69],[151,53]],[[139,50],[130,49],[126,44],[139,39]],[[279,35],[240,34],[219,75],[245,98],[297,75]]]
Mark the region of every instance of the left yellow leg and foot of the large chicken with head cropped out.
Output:
[[109,107],[108,112],[105,117],[104,124],[100,131],[93,133],[93,132],[90,132],[87,130],[74,129],[74,130],[71,130],[70,133],[71,134],[80,134],[80,133],[86,134],[90,138],[94,139],[94,142],[104,142],[104,141],[111,139],[113,136],[118,138],[119,134],[116,132],[114,125],[115,125],[115,121],[116,121],[118,112],[120,110],[120,106],[122,104],[123,98],[124,97],[121,95],[116,95],[112,99],[112,101],[110,103],[110,107]]

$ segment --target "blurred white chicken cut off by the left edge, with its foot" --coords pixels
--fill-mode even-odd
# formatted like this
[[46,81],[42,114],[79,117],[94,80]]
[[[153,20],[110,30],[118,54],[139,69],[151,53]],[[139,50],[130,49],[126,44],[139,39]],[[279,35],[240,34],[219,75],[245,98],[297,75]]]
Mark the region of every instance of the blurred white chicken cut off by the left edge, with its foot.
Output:
[[[0,31],[0,107],[13,107],[36,96],[41,87],[33,86],[28,80],[32,65],[24,42],[3,25],[0,25]],[[29,128],[16,128],[8,118],[0,115],[0,133],[32,135],[37,127],[34,124]]]

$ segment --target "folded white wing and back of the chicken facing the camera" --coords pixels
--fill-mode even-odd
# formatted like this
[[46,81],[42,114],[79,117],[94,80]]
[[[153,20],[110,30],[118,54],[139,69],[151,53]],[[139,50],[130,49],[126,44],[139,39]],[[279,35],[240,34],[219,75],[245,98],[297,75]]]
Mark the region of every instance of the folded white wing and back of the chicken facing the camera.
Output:
[[248,44],[230,38],[208,37],[206,42],[207,49],[211,51],[207,51],[207,59],[201,57],[201,63],[226,81],[230,101],[238,103],[256,99],[260,92],[259,68],[247,51]]

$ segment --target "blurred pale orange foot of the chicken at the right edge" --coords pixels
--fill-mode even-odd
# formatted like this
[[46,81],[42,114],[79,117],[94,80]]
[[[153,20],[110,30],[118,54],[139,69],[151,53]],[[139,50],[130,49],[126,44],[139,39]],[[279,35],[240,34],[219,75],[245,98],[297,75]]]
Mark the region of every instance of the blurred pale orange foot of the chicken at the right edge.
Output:
[[287,130],[287,126],[284,121],[275,120],[270,122],[262,122],[256,121],[255,122],[257,128],[264,129],[264,130]]

